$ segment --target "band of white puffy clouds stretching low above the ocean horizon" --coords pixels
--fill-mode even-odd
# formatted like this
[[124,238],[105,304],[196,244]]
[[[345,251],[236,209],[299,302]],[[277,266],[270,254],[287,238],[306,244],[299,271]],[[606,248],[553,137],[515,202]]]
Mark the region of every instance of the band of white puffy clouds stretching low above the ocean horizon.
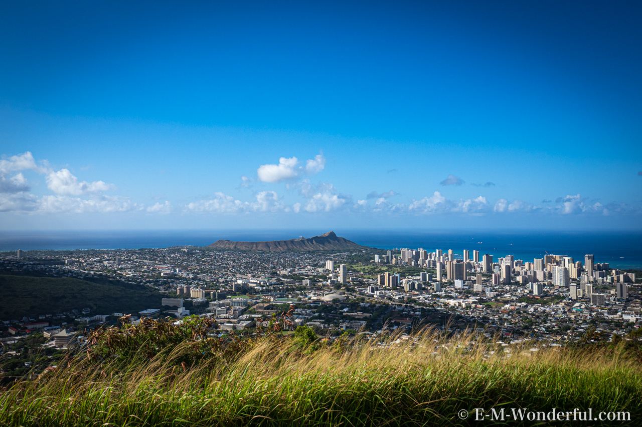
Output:
[[[326,160],[322,154],[305,163],[297,157],[281,157],[279,164],[264,164],[257,169],[258,181],[274,188],[254,191],[250,199],[234,197],[222,188],[211,197],[189,202],[161,200],[153,204],[135,201],[126,195],[105,194],[117,192],[118,187],[103,180],[80,181],[69,169],[53,169],[47,160],[37,162],[30,151],[19,155],[4,157],[0,160],[0,214],[53,215],[69,213],[91,215],[92,213],[135,213],[137,215],[211,215],[213,217],[243,217],[266,214],[310,215],[323,217],[329,213],[340,213],[348,217],[367,219],[370,217],[389,217],[390,220],[403,220],[410,217],[439,215],[461,215],[469,217],[501,217],[504,215],[526,215],[530,221],[537,217],[559,215],[598,215],[618,217],[634,215],[642,217],[640,206],[626,203],[606,203],[591,200],[580,193],[551,197],[555,202],[544,199],[532,203],[523,199],[508,197],[489,197],[479,194],[474,197],[448,197],[442,192],[432,190],[423,197],[408,197],[405,200],[399,192],[390,190],[378,193],[372,191],[361,197],[344,194],[327,181],[313,183],[310,176],[324,171]],[[31,171],[33,182],[28,182],[24,173]],[[46,186],[37,178],[44,180]],[[464,181],[456,176],[447,178],[448,184],[458,187]],[[31,186],[46,188],[53,194],[35,194]],[[494,185],[476,186],[492,188]],[[494,190],[493,190],[494,191]],[[189,195],[186,195],[189,197]],[[150,198],[157,199],[157,196]],[[391,199],[395,199],[392,202]],[[240,223],[239,223],[240,224]]]

